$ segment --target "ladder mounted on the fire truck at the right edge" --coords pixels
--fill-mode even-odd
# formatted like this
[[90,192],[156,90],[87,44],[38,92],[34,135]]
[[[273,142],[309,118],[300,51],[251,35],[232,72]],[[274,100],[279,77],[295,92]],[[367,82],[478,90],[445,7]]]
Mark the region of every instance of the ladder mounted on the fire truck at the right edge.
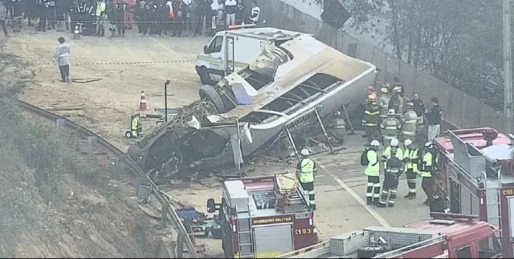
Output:
[[[487,184],[487,174],[482,171],[483,177],[485,177],[485,197],[486,197],[486,208],[487,208],[487,222],[492,225],[498,225],[500,230],[502,229],[502,213],[501,213],[501,202],[500,202],[500,190],[502,188],[502,176],[500,174],[500,169],[498,169],[498,185],[489,186]],[[480,198],[482,199],[482,198]],[[483,201],[480,200],[480,204]],[[498,232],[498,238],[502,238],[502,232]],[[492,245],[492,244],[490,244]]]

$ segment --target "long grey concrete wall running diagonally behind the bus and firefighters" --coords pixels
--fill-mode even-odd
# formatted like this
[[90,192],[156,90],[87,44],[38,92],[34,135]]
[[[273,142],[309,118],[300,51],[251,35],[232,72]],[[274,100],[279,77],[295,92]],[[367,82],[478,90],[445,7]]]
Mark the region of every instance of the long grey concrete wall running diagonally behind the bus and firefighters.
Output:
[[261,10],[260,20],[266,20],[267,26],[315,34],[317,39],[327,45],[375,64],[382,71],[378,75],[378,81],[392,82],[394,76],[399,77],[404,84],[406,97],[417,92],[426,106],[430,103],[430,98],[437,97],[443,108],[443,116],[449,122],[443,128],[495,127],[504,131],[502,112],[497,112],[475,97],[384,53],[371,45],[372,42],[361,42],[280,0],[258,0],[258,5]]

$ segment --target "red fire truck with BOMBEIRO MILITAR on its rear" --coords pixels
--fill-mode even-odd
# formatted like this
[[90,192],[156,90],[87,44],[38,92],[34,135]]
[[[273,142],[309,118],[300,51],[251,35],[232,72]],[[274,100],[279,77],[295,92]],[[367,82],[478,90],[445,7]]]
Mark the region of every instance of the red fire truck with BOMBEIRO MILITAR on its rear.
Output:
[[223,182],[219,210],[225,258],[273,258],[318,242],[308,196],[293,173]]

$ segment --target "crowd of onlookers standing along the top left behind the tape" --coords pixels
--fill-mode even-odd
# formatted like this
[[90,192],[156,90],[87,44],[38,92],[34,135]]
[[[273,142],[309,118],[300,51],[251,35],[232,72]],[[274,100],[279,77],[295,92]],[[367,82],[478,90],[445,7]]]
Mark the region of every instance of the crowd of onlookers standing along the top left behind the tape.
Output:
[[212,35],[230,25],[258,23],[256,1],[244,0],[0,0],[0,25],[5,36],[23,30],[28,20],[36,32],[76,30],[84,36],[124,37],[137,25],[141,36]]

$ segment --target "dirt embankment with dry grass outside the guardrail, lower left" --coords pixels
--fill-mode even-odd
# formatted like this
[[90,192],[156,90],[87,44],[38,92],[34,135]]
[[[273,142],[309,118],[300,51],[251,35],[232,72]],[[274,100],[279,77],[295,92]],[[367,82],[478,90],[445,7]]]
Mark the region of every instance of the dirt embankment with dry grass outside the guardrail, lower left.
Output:
[[129,172],[23,114],[14,97],[34,73],[0,55],[0,258],[158,256],[157,223],[130,198]]

